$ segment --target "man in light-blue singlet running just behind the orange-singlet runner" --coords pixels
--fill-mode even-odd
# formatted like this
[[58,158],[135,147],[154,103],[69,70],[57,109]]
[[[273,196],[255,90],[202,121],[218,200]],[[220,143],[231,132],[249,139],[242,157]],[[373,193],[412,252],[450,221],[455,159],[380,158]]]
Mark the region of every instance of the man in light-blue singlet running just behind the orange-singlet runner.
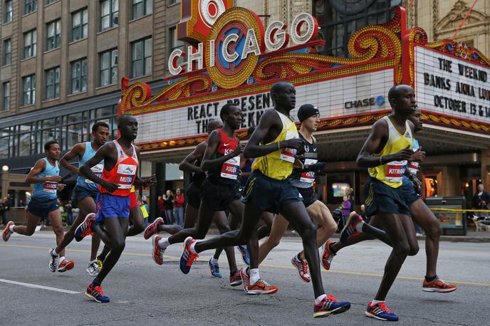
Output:
[[[95,155],[95,152],[103,145],[109,138],[109,125],[105,122],[95,122],[92,126],[92,142],[80,142],[75,144],[66,154],[60,159],[61,167],[68,169],[69,171],[78,174],[77,183],[75,189],[73,189],[73,204],[78,206],[78,217],[73,222],[70,230],[65,233],[63,241],[56,247],[49,251],[51,257],[51,263],[57,259],[59,253],[68,246],[75,237],[75,229],[82,223],[90,213],[95,213],[95,199],[99,193],[98,184],[91,182],[89,179],[81,177],[78,168],[73,166],[70,161],[78,158],[78,167],[81,167],[85,162]],[[92,171],[100,177],[102,175],[102,169],[104,162],[99,162]],[[99,273],[99,264],[97,263],[97,251],[100,245],[100,238],[98,236],[92,237],[92,251],[90,253],[90,262],[88,263],[87,273],[90,276],[96,276]]]

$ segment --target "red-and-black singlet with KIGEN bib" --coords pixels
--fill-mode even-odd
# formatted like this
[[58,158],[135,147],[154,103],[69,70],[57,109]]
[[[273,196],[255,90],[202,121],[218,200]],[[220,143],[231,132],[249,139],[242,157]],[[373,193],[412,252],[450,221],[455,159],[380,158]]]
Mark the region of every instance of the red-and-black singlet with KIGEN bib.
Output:
[[[230,138],[224,133],[223,130],[217,130],[221,134],[221,140],[219,142],[216,152],[213,155],[213,159],[224,157],[225,155],[233,152],[239,144],[238,138]],[[231,159],[228,159],[226,162],[221,164],[221,167],[219,167],[218,169],[209,171],[208,176],[214,180],[217,180],[219,178],[225,180],[236,180],[238,178],[239,169],[240,156],[238,155],[236,157],[231,157]]]

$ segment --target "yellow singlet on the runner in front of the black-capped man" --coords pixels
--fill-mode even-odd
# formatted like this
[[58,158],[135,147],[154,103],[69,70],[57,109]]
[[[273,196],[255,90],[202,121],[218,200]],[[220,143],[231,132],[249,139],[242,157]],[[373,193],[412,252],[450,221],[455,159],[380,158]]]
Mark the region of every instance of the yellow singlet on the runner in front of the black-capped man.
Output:
[[[298,129],[296,128],[294,121],[291,120],[290,117],[283,115],[281,112],[276,112],[281,118],[283,129],[276,137],[276,139],[272,142],[269,142],[268,144],[274,144],[276,142],[282,142],[283,140],[298,138]],[[262,157],[257,157],[252,164],[252,171],[258,169],[267,177],[277,180],[285,180],[293,172],[293,163],[295,157],[296,149],[280,148]]]

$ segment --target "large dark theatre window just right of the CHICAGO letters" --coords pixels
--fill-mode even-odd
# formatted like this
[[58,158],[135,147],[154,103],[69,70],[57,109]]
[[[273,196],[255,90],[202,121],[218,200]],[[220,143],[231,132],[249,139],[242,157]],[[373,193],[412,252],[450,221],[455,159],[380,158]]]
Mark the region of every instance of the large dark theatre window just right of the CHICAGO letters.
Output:
[[402,0],[313,1],[313,16],[321,28],[318,38],[325,40],[318,51],[348,58],[350,36],[364,26],[387,23],[393,16],[392,8],[401,4]]

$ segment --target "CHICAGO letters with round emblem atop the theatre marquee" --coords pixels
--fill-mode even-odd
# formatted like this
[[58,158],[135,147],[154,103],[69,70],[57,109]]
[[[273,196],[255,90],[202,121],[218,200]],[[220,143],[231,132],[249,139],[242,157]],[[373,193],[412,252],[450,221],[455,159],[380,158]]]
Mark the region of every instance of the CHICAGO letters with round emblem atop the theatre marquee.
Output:
[[[297,45],[316,38],[318,23],[311,14],[298,14],[286,33],[286,25],[273,21],[264,26],[254,12],[234,7],[221,14],[206,42],[189,46],[187,53],[175,49],[170,53],[168,68],[172,75],[204,68],[213,82],[221,88],[236,88],[253,73],[259,56],[267,51],[277,51],[291,41]],[[179,58],[186,58],[185,65],[177,65]]]

